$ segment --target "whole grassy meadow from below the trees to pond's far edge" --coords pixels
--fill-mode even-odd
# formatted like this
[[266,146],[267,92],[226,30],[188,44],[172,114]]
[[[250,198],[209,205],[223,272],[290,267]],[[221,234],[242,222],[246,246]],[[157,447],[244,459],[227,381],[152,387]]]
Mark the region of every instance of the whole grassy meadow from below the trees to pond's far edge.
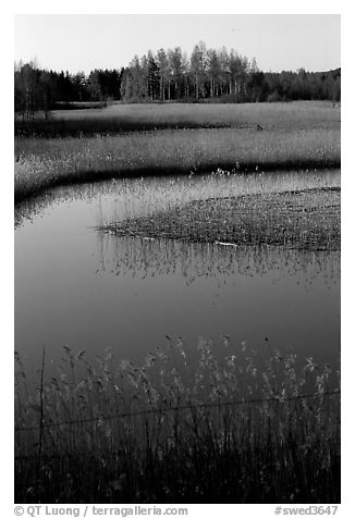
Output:
[[54,113],[50,124],[75,132],[15,138],[15,201],[58,184],[125,175],[340,166],[340,114],[330,103],[107,110]]

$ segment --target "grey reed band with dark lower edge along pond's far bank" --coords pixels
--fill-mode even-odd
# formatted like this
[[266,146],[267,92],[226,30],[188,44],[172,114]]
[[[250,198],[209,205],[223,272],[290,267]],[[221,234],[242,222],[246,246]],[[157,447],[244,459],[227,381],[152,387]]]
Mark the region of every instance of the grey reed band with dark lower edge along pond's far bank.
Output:
[[15,201],[108,177],[340,166],[340,132],[186,130],[15,141]]

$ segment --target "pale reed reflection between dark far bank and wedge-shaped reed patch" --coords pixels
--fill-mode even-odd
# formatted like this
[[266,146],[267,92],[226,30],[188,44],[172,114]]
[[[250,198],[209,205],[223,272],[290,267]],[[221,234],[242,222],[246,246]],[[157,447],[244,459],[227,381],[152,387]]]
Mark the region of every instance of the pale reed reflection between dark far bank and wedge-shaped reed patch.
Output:
[[218,170],[212,174],[189,176],[150,176],[121,178],[93,184],[62,186],[50,194],[27,199],[16,207],[19,223],[23,218],[53,202],[87,199],[99,205],[97,225],[155,214],[182,207],[194,200],[270,195],[327,187],[340,187],[340,171],[274,171],[270,173],[229,174]]

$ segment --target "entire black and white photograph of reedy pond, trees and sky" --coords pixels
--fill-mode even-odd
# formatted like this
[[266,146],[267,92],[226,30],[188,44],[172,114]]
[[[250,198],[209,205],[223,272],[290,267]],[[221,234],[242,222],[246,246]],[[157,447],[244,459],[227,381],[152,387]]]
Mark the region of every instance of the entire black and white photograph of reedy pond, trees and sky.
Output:
[[341,15],[13,23],[15,514],[336,515]]

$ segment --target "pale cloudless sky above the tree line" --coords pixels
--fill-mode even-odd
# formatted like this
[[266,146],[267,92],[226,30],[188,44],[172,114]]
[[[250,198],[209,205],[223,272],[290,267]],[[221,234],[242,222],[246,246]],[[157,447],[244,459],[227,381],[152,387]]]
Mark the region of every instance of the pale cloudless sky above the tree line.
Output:
[[338,14],[16,15],[14,60],[70,72],[125,66],[134,54],[199,40],[256,58],[264,71],[341,65]]

